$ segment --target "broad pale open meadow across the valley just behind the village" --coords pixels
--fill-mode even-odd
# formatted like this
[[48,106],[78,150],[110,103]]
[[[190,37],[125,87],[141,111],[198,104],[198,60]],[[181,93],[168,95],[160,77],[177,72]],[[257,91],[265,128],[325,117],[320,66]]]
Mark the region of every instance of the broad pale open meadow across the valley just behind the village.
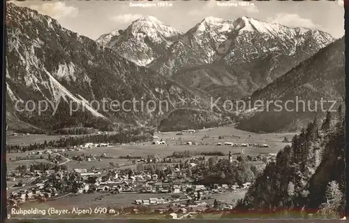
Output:
[[[204,136],[209,138],[203,138]],[[234,136],[233,136],[234,135]],[[253,134],[247,131],[241,131],[234,127],[220,127],[217,129],[202,129],[196,133],[188,134],[184,133],[181,136],[177,136],[176,132],[166,132],[156,134],[159,138],[166,141],[168,145],[151,145],[150,143],[134,144],[134,145],[119,145],[115,147],[107,148],[91,148],[84,151],[68,151],[68,154],[107,154],[108,157],[117,158],[119,156],[147,156],[148,154],[156,154],[161,157],[165,157],[172,152],[180,152],[190,150],[192,152],[212,152],[219,151],[228,154],[228,152],[239,153],[243,149],[246,154],[260,154],[269,152],[278,152],[285,145],[289,143],[283,143],[283,138],[292,138],[295,134]],[[219,136],[223,136],[223,139],[218,139]],[[203,139],[203,140],[202,140]],[[186,143],[188,141],[197,143],[209,143],[211,145],[180,145],[180,143]],[[216,145],[217,143],[257,143],[268,144],[270,148],[244,148],[244,147],[232,147],[229,145]]]

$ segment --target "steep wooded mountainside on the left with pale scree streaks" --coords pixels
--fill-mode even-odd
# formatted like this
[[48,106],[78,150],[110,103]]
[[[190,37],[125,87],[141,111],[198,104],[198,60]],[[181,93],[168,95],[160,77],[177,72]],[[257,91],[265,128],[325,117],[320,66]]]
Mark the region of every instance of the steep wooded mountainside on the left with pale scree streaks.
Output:
[[[114,111],[95,110],[87,105],[73,115],[68,103],[82,101],[142,99],[179,101],[179,96],[192,92],[175,82],[140,67],[117,55],[91,39],[61,27],[51,17],[40,15],[36,10],[7,3],[7,52],[6,87],[7,117],[10,128],[19,127],[15,120],[42,129],[57,129],[78,124],[98,126],[101,122],[126,124],[149,124],[164,115],[156,108]],[[61,96],[61,98],[60,98]],[[52,116],[52,109],[38,115],[38,110],[18,112],[16,101],[49,100],[59,104],[59,112]],[[20,108],[24,107],[21,103]],[[110,105],[110,103],[107,103]],[[37,105],[36,105],[37,106]],[[133,108],[132,103],[125,107]],[[120,109],[120,106],[118,107]]]

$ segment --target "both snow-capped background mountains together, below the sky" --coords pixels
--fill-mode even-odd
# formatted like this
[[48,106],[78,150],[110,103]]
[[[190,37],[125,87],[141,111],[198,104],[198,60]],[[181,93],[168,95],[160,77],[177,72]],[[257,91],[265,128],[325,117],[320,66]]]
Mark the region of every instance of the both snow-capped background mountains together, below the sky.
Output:
[[322,31],[251,17],[206,17],[181,34],[149,16],[97,40],[136,64],[229,99],[265,87],[332,41]]

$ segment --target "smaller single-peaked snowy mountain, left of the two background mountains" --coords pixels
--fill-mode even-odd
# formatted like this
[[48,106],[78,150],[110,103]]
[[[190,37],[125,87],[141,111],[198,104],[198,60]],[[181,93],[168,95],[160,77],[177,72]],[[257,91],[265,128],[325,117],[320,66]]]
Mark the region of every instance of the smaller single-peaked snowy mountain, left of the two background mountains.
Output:
[[96,41],[131,62],[146,66],[162,55],[180,35],[177,29],[146,15],[132,22],[127,29],[103,34]]

